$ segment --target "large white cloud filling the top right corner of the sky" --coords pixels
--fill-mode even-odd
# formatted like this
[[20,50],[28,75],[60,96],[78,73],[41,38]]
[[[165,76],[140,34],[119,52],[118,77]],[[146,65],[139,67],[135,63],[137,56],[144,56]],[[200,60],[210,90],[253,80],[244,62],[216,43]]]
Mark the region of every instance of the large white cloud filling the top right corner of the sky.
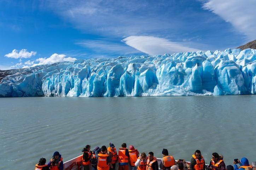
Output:
[[249,40],[256,39],[255,7],[255,0],[208,0],[203,5],[206,10],[231,23],[235,29],[244,33]]

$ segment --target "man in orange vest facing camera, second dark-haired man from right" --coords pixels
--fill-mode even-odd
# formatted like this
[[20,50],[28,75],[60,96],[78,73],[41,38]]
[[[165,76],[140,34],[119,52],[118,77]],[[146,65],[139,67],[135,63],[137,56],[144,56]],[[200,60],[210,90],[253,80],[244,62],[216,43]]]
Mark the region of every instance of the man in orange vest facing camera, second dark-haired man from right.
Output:
[[205,170],[204,157],[201,155],[201,151],[196,150],[190,160],[191,170]]

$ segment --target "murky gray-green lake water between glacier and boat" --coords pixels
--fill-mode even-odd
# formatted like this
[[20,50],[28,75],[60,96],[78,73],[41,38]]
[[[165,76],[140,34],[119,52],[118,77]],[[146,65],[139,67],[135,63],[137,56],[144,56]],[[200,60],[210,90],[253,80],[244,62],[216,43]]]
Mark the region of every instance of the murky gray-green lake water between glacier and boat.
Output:
[[163,148],[190,160],[197,149],[255,161],[256,95],[0,98],[0,169],[33,169],[59,151],[64,161],[109,142],[139,152]]

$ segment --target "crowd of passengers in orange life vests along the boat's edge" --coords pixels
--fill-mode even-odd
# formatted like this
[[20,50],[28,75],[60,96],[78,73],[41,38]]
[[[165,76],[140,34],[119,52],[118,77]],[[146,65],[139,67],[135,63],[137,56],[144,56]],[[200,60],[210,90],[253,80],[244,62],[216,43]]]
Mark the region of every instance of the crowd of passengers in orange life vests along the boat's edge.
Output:
[[[256,162],[250,165],[247,158],[242,158],[240,161],[234,160],[234,166],[226,166],[223,156],[216,152],[212,154],[209,166],[205,166],[205,160],[199,150],[194,152],[190,163],[187,163],[184,159],[175,161],[174,157],[169,155],[168,150],[163,149],[163,158],[159,166],[153,152],[149,152],[148,155],[144,152],[139,154],[133,145],[130,145],[128,149],[126,143],[121,145],[118,153],[112,143],[109,147],[97,146],[93,151],[90,145],[86,145],[82,152],[83,170],[158,170],[158,167],[162,170],[256,170]],[[45,163],[46,159],[41,158],[35,165],[35,170],[63,170],[63,161],[59,152],[54,152],[48,164]]]

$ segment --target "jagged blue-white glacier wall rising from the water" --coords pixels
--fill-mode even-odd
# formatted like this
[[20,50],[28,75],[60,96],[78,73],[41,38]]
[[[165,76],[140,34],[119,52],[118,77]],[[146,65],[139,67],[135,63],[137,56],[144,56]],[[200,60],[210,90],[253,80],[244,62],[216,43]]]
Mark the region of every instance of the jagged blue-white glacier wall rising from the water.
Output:
[[0,97],[256,94],[256,50],[77,59],[8,70]]

